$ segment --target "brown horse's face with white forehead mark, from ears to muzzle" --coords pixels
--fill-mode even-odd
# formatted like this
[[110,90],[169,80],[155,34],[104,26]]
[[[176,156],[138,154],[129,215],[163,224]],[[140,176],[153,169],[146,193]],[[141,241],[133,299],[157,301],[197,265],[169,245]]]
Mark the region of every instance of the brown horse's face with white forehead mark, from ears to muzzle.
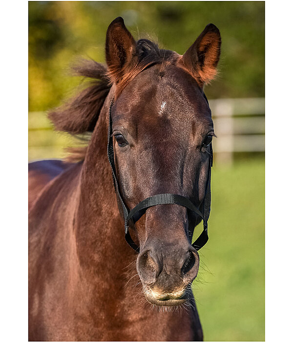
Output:
[[[183,56],[164,50],[163,63],[149,64],[133,76],[132,65],[139,63],[139,51],[146,53],[147,47],[136,46],[120,20],[111,25],[106,59],[116,82],[112,129],[116,170],[126,205],[132,209],[151,195],[175,193],[200,207],[209,171],[206,146],[214,132],[201,87],[209,76],[199,71],[197,76],[192,74],[196,67],[191,68],[190,63],[192,51],[199,48],[202,55],[198,52],[196,61],[202,59],[201,70],[205,60],[212,60],[203,54],[213,51],[210,44],[215,30],[204,31]],[[177,305],[187,298],[188,285],[199,267],[198,253],[191,246],[193,228],[199,221],[186,208],[168,204],[148,208],[135,227],[130,225],[130,233],[140,245],[137,271],[149,302]]]

